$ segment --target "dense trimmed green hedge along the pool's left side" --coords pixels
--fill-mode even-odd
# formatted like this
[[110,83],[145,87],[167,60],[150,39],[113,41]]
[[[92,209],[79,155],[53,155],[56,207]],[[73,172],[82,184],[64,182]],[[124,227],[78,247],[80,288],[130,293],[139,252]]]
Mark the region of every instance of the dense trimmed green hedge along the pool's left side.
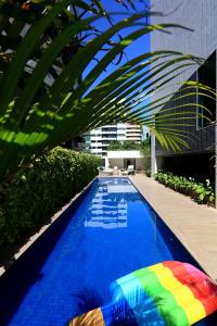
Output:
[[98,174],[100,162],[55,148],[0,185],[0,251],[47,223]]

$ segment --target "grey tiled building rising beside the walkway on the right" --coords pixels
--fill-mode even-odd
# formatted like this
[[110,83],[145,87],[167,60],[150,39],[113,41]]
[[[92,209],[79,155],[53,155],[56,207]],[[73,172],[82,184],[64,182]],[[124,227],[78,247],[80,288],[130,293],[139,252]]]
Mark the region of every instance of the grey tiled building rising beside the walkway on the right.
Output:
[[[184,92],[181,84],[186,80],[197,80],[212,88],[216,88],[216,49],[217,49],[217,1],[214,0],[151,0],[154,11],[162,12],[164,16],[153,15],[151,23],[153,25],[161,23],[174,23],[190,28],[170,28],[169,34],[154,32],[151,34],[151,51],[155,50],[175,50],[182,53],[190,53],[205,60],[201,66],[194,64],[184,70],[184,73],[176,75],[171,82],[169,92]],[[165,74],[165,72],[164,72]],[[166,75],[166,74],[165,74]],[[165,88],[159,97],[166,95],[168,88]],[[189,90],[191,91],[191,90]],[[188,93],[187,93],[188,95]],[[155,96],[154,99],[156,99]],[[200,114],[202,112],[197,103],[202,103],[209,109],[210,121],[205,120]],[[156,166],[174,173],[191,175],[206,174],[214,178],[215,162],[210,160],[215,155],[215,121],[216,102],[202,98],[200,92],[195,92],[184,99],[176,100],[176,93],[162,109],[169,109],[173,112],[175,105],[179,105],[180,111],[187,110],[196,113],[191,121],[191,126],[178,126],[179,129],[190,135],[189,147],[183,147],[180,153],[164,151],[156,142]],[[174,109],[177,111],[177,109]],[[163,111],[158,112],[161,116]],[[213,123],[212,123],[213,122]],[[183,122],[182,122],[183,123]],[[199,163],[200,162],[200,163]]]

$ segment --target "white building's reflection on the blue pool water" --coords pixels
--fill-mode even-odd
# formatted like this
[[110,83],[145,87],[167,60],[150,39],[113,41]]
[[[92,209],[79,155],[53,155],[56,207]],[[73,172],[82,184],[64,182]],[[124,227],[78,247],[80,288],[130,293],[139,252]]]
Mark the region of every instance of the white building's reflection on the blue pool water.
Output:
[[86,227],[127,227],[127,201],[138,200],[138,192],[126,178],[105,179],[98,184],[97,193],[86,215]]

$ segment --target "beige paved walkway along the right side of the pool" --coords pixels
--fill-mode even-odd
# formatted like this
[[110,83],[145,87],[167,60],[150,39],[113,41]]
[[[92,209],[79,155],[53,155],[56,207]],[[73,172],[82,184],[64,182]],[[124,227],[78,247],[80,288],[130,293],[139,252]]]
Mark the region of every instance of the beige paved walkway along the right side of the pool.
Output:
[[130,176],[130,180],[217,283],[217,210],[199,205],[142,174]]

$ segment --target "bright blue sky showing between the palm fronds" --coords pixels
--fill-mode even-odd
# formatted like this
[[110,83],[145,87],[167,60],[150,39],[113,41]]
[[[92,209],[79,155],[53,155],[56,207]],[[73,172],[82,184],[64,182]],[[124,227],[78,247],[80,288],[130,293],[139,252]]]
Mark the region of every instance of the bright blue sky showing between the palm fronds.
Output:
[[[108,13],[115,13],[112,14],[113,23],[117,23],[118,21],[126,18],[126,15],[129,15],[130,13],[133,14],[135,11],[132,9],[125,9],[125,7],[117,3],[115,0],[102,0],[101,1],[105,8],[105,10]],[[125,1],[126,2],[126,1]],[[144,11],[145,4],[143,2],[140,2],[139,0],[133,0],[135,4],[137,4],[138,11]],[[95,27],[102,32],[106,30],[111,27],[111,24],[106,22],[104,18],[97,21],[94,24]],[[141,27],[140,27],[141,28]],[[137,27],[138,29],[138,27]],[[132,33],[135,30],[133,27],[124,29],[120,35],[122,37],[127,36],[128,34]],[[115,37],[113,39],[114,41],[118,41],[118,37]],[[128,60],[131,60],[138,55],[144,54],[150,51],[150,36],[142,36],[138,40],[133,41],[129,47],[125,49],[125,55],[123,57],[120,63],[118,65],[114,64],[117,62],[118,58],[114,60],[114,63],[112,63],[110,66],[107,66],[106,72],[102,73],[101,76],[93,83],[93,88],[97,84],[99,84],[103,78],[105,78],[108,74],[111,74],[113,71],[115,71],[118,66],[122,66],[125,64]],[[101,51],[97,59],[100,60],[106,52]],[[88,68],[86,70],[84,77],[90,72],[90,70],[97,64],[97,61],[92,61]],[[148,129],[144,129],[144,136],[146,135]]]

